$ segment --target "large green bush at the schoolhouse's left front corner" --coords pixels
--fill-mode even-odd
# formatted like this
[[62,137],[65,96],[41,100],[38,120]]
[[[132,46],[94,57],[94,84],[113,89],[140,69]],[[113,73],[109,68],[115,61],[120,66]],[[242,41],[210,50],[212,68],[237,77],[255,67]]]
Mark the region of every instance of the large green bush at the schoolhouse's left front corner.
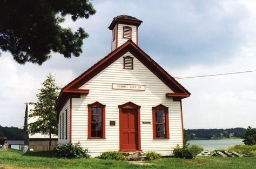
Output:
[[80,143],[77,144],[59,144],[55,148],[55,156],[58,158],[90,158],[88,149],[83,149]]

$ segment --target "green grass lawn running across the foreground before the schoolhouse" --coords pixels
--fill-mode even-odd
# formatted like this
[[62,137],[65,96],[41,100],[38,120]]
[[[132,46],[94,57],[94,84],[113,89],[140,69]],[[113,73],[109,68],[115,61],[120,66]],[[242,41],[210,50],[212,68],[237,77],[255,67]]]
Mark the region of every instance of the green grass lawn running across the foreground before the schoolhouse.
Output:
[[148,161],[153,165],[136,165],[126,161],[100,159],[58,159],[52,152],[0,151],[0,168],[246,168],[256,169],[256,158],[196,157],[193,160],[163,158]]

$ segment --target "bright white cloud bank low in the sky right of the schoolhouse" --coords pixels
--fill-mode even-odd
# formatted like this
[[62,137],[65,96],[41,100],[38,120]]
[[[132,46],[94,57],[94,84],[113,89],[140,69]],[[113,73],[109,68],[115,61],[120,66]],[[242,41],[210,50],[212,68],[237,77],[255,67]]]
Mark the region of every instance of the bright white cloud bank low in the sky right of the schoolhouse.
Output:
[[[256,70],[256,47],[243,48],[239,56],[215,66],[193,65],[169,70],[179,77]],[[178,79],[191,97],[183,101],[187,129],[255,126],[256,72]]]

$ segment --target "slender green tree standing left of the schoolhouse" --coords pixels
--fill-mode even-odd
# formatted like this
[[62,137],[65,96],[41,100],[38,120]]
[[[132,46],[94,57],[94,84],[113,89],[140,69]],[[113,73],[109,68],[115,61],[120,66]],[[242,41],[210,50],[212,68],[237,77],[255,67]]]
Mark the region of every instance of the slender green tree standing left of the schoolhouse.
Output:
[[50,137],[49,151],[51,148],[51,136],[52,134],[58,134],[57,129],[57,112],[54,107],[58,99],[58,90],[60,89],[56,83],[54,77],[49,73],[47,79],[42,83],[43,87],[39,89],[37,94],[38,102],[30,103],[34,106],[31,110],[29,118],[36,119],[34,123],[28,125],[28,131],[31,134],[41,133],[48,134]]

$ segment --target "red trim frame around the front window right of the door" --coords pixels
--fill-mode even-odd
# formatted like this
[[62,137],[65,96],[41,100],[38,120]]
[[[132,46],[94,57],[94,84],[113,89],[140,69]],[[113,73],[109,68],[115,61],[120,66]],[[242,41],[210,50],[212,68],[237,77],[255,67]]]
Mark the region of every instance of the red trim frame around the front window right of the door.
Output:
[[[156,110],[165,110],[165,137],[159,138],[156,136]],[[153,139],[170,139],[169,136],[169,107],[162,104],[152,107],[152,117],[153,117]]]

